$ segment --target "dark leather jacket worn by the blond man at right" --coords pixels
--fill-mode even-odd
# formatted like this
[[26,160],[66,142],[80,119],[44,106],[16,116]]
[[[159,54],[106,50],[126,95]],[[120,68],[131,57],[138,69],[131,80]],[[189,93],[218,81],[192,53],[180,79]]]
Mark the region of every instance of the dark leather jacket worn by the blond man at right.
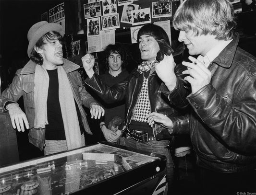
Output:
[[239,35],[209,65],[211,82],[187,99],[192,115],[174,117],[173,135],[190,133],[197,164],[217,172],[256,168],[256,57]]

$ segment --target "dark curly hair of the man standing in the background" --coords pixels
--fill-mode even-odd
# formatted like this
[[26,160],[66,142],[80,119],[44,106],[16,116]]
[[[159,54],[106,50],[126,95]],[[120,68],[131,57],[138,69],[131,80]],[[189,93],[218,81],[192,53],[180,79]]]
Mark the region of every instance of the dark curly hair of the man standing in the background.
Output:
[[119,54],[122,59],[122,69],[126,68],[128,65],[128,60],[131,59],[131,53],[128,51],[126,46],[121,45],[121,44],[115,44],[115,45],[108,45],[104,49],[105,52],[105,64],[106,68],[109,69],[109,64],[108,64],[108,57],[110,56],[110,53],[114,54]]

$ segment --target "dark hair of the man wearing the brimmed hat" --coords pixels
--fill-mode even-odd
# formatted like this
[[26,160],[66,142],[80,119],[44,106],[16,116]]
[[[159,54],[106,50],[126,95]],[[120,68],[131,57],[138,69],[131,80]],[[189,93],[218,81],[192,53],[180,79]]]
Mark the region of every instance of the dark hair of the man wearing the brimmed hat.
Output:
[[[60,43],[62,44],[62,36],[60,33],[58,33],[57,31],[49,31],[48,33],[44,34],[43,36],[41,36],[36,45],[38,48],[41,48],[48,42],[50,41],[54,41],[58,39],[60,41]],[[37,51],[35,50],[35,48],[33,48],[33,50],[31,51],[30,54],[30,59],[35,62],[36,64],[42,65],[43,64],[43,57],[41,56],[41,54],[38,54]]]

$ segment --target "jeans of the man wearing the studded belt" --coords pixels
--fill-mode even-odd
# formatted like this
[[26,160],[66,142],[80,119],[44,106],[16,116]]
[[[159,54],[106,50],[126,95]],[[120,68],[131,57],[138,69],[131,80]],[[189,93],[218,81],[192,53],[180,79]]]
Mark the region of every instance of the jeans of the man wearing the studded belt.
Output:
[[139,142],[136,141],[130,137],[122,137],[120,138],[120,145],[130,147],[133,149],[139,149],[147,152],[153,152],[153,153],[158,153],[161,155],[166,156],[166,173],[167,173],[167,181],[168,181],[168,186],[169,189],[173,188],[173,179],[174,179],[174,173],[173,173],[173,161],[171,158],[171,152],[167,148],[169,145],[169,140],[162,140],[162,141],[157,141],[157,140],[150,140],[148,142]]

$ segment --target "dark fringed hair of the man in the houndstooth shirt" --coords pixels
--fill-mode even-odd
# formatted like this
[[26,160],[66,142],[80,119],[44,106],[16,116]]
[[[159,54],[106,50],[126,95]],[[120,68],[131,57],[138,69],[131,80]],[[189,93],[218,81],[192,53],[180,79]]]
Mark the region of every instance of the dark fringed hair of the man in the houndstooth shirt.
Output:
[[157,41],[164,39],[166,43],[170,45],[170,40],[167,35],[167,33],[164,31],[164,29],[158,25],[155,24],[146,24],[142,26],[137,34],[137,42],[139,42],[139,38],[142,35],[150,35],[153,36]]

